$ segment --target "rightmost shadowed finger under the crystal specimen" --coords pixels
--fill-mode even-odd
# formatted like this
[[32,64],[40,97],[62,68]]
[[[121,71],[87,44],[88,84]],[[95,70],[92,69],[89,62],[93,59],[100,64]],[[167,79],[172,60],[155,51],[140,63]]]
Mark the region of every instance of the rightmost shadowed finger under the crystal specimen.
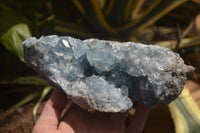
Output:
[[143,104],[139,103],[136,107],[136,114],[133,116],[133,120],[128,126],[126,133],[141,133],[144,128],[148,113],[149,109]]

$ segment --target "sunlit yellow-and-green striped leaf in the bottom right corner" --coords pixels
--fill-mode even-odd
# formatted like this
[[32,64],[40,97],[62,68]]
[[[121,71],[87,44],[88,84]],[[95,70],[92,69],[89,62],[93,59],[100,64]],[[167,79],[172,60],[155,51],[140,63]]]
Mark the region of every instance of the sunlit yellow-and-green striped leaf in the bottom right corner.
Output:
[[182,94],[169,104],[169,109],[176,133],[200,132],[200,110],[186,87]]

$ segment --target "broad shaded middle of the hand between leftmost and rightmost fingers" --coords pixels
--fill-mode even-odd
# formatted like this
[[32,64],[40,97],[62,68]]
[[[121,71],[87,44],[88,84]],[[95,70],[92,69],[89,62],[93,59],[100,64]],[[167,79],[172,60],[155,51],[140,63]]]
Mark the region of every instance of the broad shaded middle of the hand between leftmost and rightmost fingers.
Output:
[[59,129],[71,132],[119,132],[126,113],[88,112],[73,104],[59,123]]

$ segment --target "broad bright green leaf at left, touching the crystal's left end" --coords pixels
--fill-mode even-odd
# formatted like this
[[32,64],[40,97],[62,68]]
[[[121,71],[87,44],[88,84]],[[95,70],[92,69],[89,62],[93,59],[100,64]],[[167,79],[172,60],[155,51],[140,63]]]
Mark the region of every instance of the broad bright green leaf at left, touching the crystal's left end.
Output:
[[0,12],[0,25],[1,44],[24,62],[22,42],[31,37],[27,24],[15,12],[4,10]]

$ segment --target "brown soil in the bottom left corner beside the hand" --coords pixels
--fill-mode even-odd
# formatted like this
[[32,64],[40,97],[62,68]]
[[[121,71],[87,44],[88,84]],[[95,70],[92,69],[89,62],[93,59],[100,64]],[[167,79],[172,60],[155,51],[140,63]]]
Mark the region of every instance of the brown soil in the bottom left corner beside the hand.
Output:
[[[40,105],[37,116],[40,115],[44,103]],[[32,102],[13,111],[0,110],[0,133],[30,133],[34,125],[33,107]]]

